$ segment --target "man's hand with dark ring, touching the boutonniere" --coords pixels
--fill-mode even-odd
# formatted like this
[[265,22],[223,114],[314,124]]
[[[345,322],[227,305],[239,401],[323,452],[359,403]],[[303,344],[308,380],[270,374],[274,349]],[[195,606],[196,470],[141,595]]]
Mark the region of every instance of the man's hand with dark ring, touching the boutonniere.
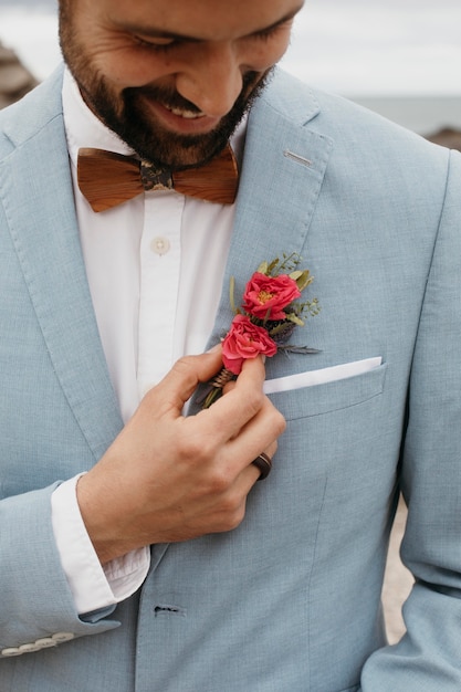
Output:
[[274,454],[285,421],[262,394],[260,358],[247,360],[209,409],[182,417],[220,357],[218,349],[178,360],[80,479],[80,508],[102,563],[151,543],[231,531],[243,520],[260,473],[251,462],[262,451]]

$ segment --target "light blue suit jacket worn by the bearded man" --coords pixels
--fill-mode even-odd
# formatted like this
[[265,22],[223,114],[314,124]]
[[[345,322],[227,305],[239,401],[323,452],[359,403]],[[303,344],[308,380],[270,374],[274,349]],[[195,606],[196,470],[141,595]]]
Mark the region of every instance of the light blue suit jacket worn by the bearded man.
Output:
[[[460,157],[274,78],[249,120],[210,344],[231,319],[229,276],[241,292],[262,260],[298,252],[322,312],[296,339],[321,353],[270,359],[268,378],[383,365],[272,395],[287,431],[241,526],[154,546],[135,596],[78,618],[50,495],[122,420],[60,87],[56,73],[0,115],[1,692],[459,692]],[[380,589],[399,489],[416,586],[409,635],[389,648]]]

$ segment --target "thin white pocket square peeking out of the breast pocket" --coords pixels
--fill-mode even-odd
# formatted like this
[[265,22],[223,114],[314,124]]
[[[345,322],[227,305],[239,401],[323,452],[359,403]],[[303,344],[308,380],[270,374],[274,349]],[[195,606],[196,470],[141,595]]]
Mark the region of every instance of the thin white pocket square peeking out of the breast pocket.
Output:
[[291,389],[301,389],[302,387],[312,387],[314,385],[325,385],[334,382],[338,379],[346,379],[355,375],[362,375],[379,367],[383,358],[365,358],[364,360],[355,360],[354,363],[344,363],[343,365],[334,365],[329,368],[321,370],[311,370],[308,373],[297,373],[296,375],[287,375],[286,377],[277,377],[268,379],[264,382],[264,394],[275,394],[277,391],[290,391]]

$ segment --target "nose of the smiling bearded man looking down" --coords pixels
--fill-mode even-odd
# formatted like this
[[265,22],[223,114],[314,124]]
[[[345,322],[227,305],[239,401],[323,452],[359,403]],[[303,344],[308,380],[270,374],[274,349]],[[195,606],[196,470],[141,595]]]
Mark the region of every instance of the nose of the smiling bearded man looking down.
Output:
[[193,56],[176,74],[176,88],[208,116],[229,113],[242,90],[242,71],[232,44],[195,45]]

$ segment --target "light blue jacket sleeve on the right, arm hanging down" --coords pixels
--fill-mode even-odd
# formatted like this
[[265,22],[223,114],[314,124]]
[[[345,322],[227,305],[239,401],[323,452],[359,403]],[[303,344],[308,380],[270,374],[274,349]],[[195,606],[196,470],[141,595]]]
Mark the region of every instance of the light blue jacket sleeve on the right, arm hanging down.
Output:
[[402,450],[407,635],[367,661],[363,692],[461,689],[461,160],[452,156],[415,347]]

